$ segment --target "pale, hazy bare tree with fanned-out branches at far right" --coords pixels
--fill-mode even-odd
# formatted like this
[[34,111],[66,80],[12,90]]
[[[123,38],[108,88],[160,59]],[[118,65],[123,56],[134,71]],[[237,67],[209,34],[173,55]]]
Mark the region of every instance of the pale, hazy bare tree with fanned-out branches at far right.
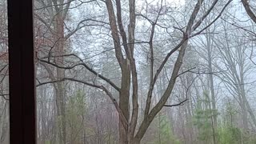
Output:
[[[255,116],[251,109],[248,98],[246,97],[246,73],[250,70],[250,66],[246,64],[246,40],[244,38],[239,39],[238,36],[232,36],[234,39],[233,42],[230,37],[227,35],[227,26],[226,22],[223,23],[224,26],[224,35],[225,43],[221,42],[220,39],[214,39],[214,44],[218,47],[222,62],[226,67],[226,72],[222,73],[222,81],[228,86],[230,93],[233,94],[242,110],[242,126],[245,130],[249,129],[249,122],[247,115],[250,114],[250,118],[255,126]],[[222,44],[221,44],[222,43]],[[248,59],[247,59],[248,61]],[[215,64],[218,70],[223,70],[221,65]]]

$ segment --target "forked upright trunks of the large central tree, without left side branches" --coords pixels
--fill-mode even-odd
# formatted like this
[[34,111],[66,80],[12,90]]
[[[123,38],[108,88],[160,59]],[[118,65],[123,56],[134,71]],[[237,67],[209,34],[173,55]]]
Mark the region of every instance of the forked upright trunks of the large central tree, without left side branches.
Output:
[[[195,22],[194,20],[197,18],[198,12],[202,6],[203,0],[198,0],[196,5],[194,6],[193,13],[190,15],[190,19],[186,26],[186,31],[183,32],[183,38],[182,41],[175,46],[173,50],[170,50],[170,52],[166,55],[166,58],[164,58],[161,66],[158,67],[158,70],[153,73],[153,58],[152,58],[152,66],[151,66],[151,80],[150,82],[150,90],[149,94],[147,95],[147,101],[146,101],[146,110],[144,114],[144,118],[142,120],[142,124],[138,127],[138,131],[136,134],[134,134],[135,128],[137,126],[138,122],[138,78],[137,78],[137,70],[136,70],[136,63],[134,59],[134,29],[135,29],[135,0],[129,0],[129,16],[130,16],[130,22],[128,25],[128,37],[126,35],[126,31],[124,29],[124,26],[122,26],[122,8],[121,8],[121,2],[120,0],[116,0],[116,11],[114,10],[113,2],[112,0],[106,0],[106,9],[108,12],[109,22],[110,22],[110,30],[111,30],[111,36],[113,38],[114,43],[114,52],[115,57],[118,60],[118,64],[122,70],[122,81],[121,81],[121,89],[119,91],[119,105],[117,106],[115,104],[114,98],[109,94],[107,90],[105,90],[106,94],[110,96],[112,101],[115,104],[115,107],[118,110],[119,114],[119,144],[139,144],[143,138],[143,136],[146,133],[146,130],[149,128],[150,123],[154,120],[155,116],[158,114],[160,110],[162,110],[162,107],[166,104],[166,101],[170,97],[170,94],[172,93],[172,90],[174,89],[174,84],[176,82],[176,79],[178,78],[179,70],[182,66],[182,60],[185,55],[186,46],[188,44],[188,39],[190,38],[190,34],[198,28],[198,26],[201,25],[202,21],[208,14],[210,14],[210,11],[215,6],[217,1],[214,1],[211,9],[206,12],[206,14],[203,14],[200,21]],[[226,6],[231,2],[226,3],[226,5],[223,7],[223,10],[226,8]],[[159,11],[158,16],[161,13],[162,8]],[[222,10],[222,11],[223,11]],[[116,13],[116,14],[115,14]],[[220,13],[222,14],[222,13]],[[219,17],[218,17],[219,18]],[[217,19],[215,19],[217,20]],[[153,22],[155,24],[157,23],[158,18],[156,18],[156,22]],[[118,24],[118,25],[117,25]],[[154,28],[152,28],[154,30]],[[202,30],[203,31],[203,30]],[[201,31],[201,32],[202,32]],[[201,32],[198,32],[200,34]],[[154,36],[154,32],[151,33]],[[150,37],[150,50],[152,51],[151,56],[153,56],[153,36]],[[121,42],[122,39],[122,42]],[[128,42],[127,42],[127,39]],[[165,92],[162,94],[162,97],[160,98],[159,102],[150,109],[150,103],[151,103],[151,96],[152,91],[154,89],[154,84],[158,79],[158,74],[162,71],[163,67],[166,65],[166,62],[170,58],[170,55],[173,54],[176,50],[179,50],[178,58],[174,62],[173,71],[171,74],[171,78],[169,80],[168,86],[165,90]],[[154,75],[154,78],[153,78]],[[132,79],[131,79],[132,78]],[[132,83],[132,85],[130,84]],[[132,105],[130,105],[130,86],[132,86]],[[130,117],[130,106],[132,106],[131,110],[131,117]]]

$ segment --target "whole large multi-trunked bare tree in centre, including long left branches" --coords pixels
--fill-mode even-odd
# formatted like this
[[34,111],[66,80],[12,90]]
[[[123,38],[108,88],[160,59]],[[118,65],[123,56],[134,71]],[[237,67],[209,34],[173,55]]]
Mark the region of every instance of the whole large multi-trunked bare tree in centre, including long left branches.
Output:
[[[185,55],[186,46],[188,44],[189,38],[193,38],[194,36],[201,34],[202,31],[206,30],[209,26],[211,26],[222,14],[226,6],[231,2],[228,1],[226,5],[222,8],[221,12],[219,12],[218,16],[214,18],[209,25],[202,27],[201,24],[205,20],[205,18],[210,14],[210,12],[214,9],[214,6],[218,2],[217,0],[214,1],[208,10],[205,13],[199,14],[201,7],[203,5],[202,0],[198,0],[198,2],[194,6],[194,10],[190,14],[190,18],[186,23],[186,30],[182,30],[182,28],[176,28],[182,32],[182,38],[180,42],[174,48],[172,48],[166,57],[162,60],[160,66],[158,68],[154,68],[154,45],[153,45],[153,38],[154,38],[154,27],[158,26],[158,19],[165,14],[164,6],[162,1],[159,4],[157,16],[154,20],[150,20],[147,18],[151,23],[151,36],[150,41],[146,42],[149,43],[150,47],[150,86],[147,92],[146,98],[146,107],[144,112],[144,118],[142,119],[142,123],[138,126],[138,70],[137,70],[137,63],[136,57],[134,56],[134,44],[135,42],[135,22],[136,22],[136,10],[135,10],[135,1],[130,0],[129,5],[129,24],[128,30],[125,30],[124,22],[122,20],[122,4],[119,0],[115,1],[115,6],[111,0],[106,0],[106,9],[109,15],[109,22],[110,22],[110,31],[111,36],[113,38],[113,46],[115,57],[118,60],[118,65],[121,70],[121,86],[116,86],[114,82],[111,82],[109,78],[106,78],[102,74],[98,74],[95,70],[87,66],[86,62],[83,62],[81,58],[78,58],[77,55],[70,54],[70,56],[77,57],[80,59],[80,62],[73,65],[73,66],[62,66],[62,62],[60,63],[53,63],[50,61],[46,61],[40,59],[41,62],[48,63],[52,66],[56,66],[59,69],[73,69],[75,66],[84,66],[87,70],[95,74],[98,78],[101,78],[103,81],[108,83],[110,86],[113,86],[115,90],[118,91],[118,100],[113,97],[113,94],[110,93],[110,90],[107,90],[105,86],[98,85],[95,83],[85,82],[82,80],[78,80],[75,78],[65,78],[59,77],[59,79],[54,79],[52,82],[60,82],[64,80],[70,80],[74,82],[82,82],[88,86],[93,86],[95,88],[103,90],[114,103],[115,108],[118,110],[120,122],[119,122],[119,143],[140,143],[146,130],[150,126],[150,123],[153,121],[154,117],[158,114],[162,107],[166,104],[168,98],[170,98],[170,94],[174,89],[174,84],[176,79],[180,74],[179,70],[182,66],[182,60]],[[116,9],[116,14],[114,13]],[[200,15],[200,16],[198,16]],[[201,30],[198,28],[201,27]],[[155,83],[158,80],[158,75],[162,73],[164,66],[166,66],[166,62],[178,50],[178,56],[174,61],[174,66],[172,67],[172,74],[170,75],[170,79],[168,82],[168,86],[164,90],[161,98],[158,102],[153,106],[152,103],[152,93],[154,90]],[[155,71],[156,70],[156,71]],[[131,94],[130,94],[131,92]],[[130,95],[131,95],[131,104],[130,104]],[[131,111],[130,111],[131,109]],[[138,126],[138,127],[137,127]],[[136,130],[136,127],[138,128]]]

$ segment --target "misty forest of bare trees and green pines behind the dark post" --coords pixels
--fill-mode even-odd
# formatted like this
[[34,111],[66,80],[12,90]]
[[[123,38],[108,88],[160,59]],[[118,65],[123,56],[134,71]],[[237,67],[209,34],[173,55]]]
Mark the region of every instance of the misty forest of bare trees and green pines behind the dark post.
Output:
[[256,143],[255,0],[34,0],[34,50],[38,144]]

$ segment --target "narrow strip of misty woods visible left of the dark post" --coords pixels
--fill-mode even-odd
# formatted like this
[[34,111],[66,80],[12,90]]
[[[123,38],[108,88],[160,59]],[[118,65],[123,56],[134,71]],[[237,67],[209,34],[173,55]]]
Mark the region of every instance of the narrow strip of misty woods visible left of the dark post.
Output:
[[0,143],[9,144],[7,1],[0,0]]

